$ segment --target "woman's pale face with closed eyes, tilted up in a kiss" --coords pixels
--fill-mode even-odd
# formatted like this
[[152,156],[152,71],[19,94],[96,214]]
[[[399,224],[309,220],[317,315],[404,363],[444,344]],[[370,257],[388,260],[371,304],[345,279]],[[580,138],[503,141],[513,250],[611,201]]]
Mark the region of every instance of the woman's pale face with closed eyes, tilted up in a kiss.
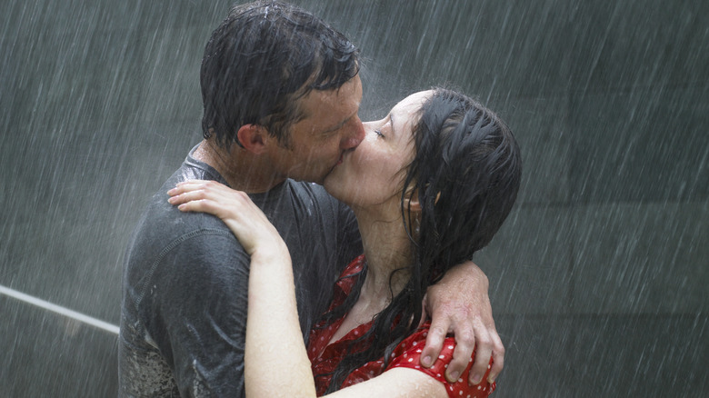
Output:
[[398,212],[404,168],[414,159],[412,129],[431,95],[433,91],[409,95],[384,119],[364,123],[364,141],[325,177],[327,192],[353,208],[396,204]]

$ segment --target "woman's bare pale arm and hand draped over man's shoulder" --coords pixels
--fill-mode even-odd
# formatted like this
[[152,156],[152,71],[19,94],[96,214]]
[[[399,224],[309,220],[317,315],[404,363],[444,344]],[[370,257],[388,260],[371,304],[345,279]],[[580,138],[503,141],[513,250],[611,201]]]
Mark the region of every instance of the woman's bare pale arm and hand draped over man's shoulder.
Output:
[[[244,352],[249,397],[315,397],[315,381],[298,323],[290,254],[249,196],[215,181],[192,180],[167,192],[183,212],[214,214],[251,255]],[[274,383],[278,374],[279,383]],[[287,390],[284,388],[287,386]]]

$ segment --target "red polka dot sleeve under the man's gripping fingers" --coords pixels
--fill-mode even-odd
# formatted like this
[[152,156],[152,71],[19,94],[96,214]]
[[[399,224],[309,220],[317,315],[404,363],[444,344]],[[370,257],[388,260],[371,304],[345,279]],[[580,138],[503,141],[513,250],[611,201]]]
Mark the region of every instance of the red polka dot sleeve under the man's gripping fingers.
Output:
[[[487,373],[483,377],[483,382],[477,385],[469,385],[468,375],[470,373],[470,368],[473,365],[473,359],[470,360],[468,366],[465,368],[464,373],[458,378],[455,383],[449,383],[445,379],[445,368],[448,367],[448,363],[453,359],[453,352],[455,348],[455,340],[453,337],[447,337],[444,341],[444,347],[435,361],[434,365],[430,368],[424,368],[421,366],[421,352],[424,349],[425,338],[427,330],[419,331],[408,338],[404,339],[402,343],[396,346],[394,349],[394,357],[391,363],[389,363],[388,369],[393,369],[397,367],[410,368],[423,372],[433,377],[435,380],[444,383],[445,391],[451,398],[480,398],[486,397],[493,393],[495,388],[495,383],[487,382],[487,374],[490,372],[490,367],[492,365],[492,358],[490,359],[490,364],[487,367]],[[474,357],[473,353],[473,357]]]

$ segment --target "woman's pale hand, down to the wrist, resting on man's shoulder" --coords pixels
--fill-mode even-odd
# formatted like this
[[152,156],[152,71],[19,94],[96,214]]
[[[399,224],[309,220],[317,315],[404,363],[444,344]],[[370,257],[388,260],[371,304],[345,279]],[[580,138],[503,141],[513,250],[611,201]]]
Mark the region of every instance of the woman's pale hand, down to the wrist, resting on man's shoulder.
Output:
[[213,214],[226,224],[247,254],[287,255],[288,248],[275,226],[247,194],[208,180],[189,180],[167,191],[170,204],[183,212]]

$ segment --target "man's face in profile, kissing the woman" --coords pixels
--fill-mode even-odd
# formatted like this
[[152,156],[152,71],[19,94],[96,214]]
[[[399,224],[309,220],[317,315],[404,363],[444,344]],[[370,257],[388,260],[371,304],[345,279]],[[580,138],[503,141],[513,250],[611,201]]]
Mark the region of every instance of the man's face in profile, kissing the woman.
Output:
[[338,90],[313,90],[299,101],[305,118],[291,126],[288,147],[272,140],[267,152],[282,176],[322,184],[345,151],[364,139],[357,115],[362,82],[355,75]]

